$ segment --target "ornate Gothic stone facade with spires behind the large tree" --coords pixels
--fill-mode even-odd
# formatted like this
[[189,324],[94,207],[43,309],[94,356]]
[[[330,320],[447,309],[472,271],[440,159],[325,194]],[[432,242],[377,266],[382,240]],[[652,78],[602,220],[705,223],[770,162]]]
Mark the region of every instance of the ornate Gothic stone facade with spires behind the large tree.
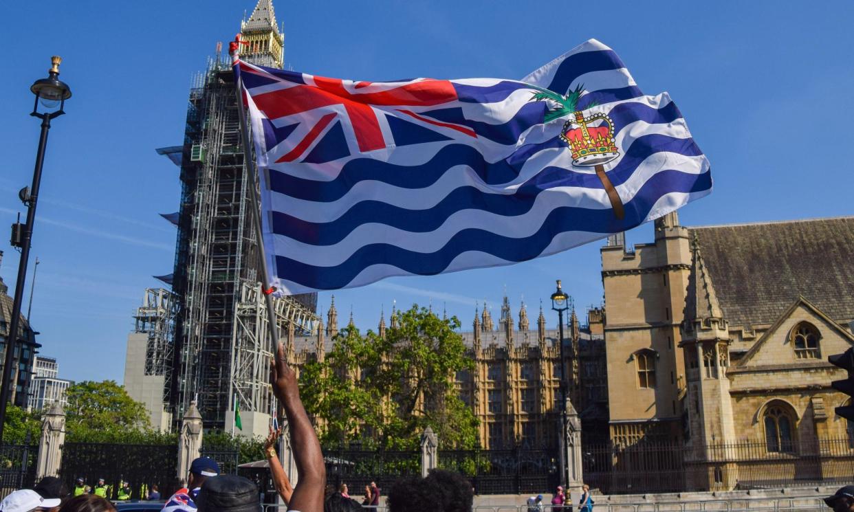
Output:
[[[325,328],[315,336],[294,337],[286,343],[290,361],[297,369],[307,361],[329,352],[338,333],[338,313],[333,297]],[[394,327],[395,314],[392,312]],[[588,311],[588,325],[582,326],[575,311],[564,326],[564,354],[561,364],[559,329],[547,329],[545,312],[540,309],[531,329],[523,304],[517,315],[505,297],[500,317],[494,321],[488,305],[475,311],[472,329],[459,333],[468,347],[475,369],[456,375],[456,385],[465,404],[480,422],[480,442],[484,449],[559,446],[559,378],[563,367],[567,393],[578,411],[585,432],[607,432],[605,345],[601,309]],[[516,320],[518,319],[518,323]],[[352,323],[352,317],[350,322]],[[381,313],[377,334],[387,329]],[[322,421],[319,420],[319,421]]]

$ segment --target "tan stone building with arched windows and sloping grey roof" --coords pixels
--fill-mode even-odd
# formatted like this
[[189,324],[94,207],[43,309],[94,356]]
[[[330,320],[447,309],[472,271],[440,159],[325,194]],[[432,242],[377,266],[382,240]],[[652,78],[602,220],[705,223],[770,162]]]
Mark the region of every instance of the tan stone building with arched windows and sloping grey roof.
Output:
[[[849,443],[828,355],[854,346],[854,218],[687,228],[601,249],[611,441],[681,441],[822,457]],[[689,457],[688,455],[686,457]],[[731,488],[726,464],[706,487]],[[825,472],[824,477],[827,477]],[[701,477],[702,478],[702,477]],[[704,485],[697,485],[698,488]]]

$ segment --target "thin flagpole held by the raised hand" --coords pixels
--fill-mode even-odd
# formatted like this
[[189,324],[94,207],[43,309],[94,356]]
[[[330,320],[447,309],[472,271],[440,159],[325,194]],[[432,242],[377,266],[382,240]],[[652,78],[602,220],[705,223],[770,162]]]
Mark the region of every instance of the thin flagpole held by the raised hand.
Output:
[[[238,34],[239,41],[239,34]],[[239,43],[237,44],[238,49],[232,52],[232,55],[235,58],[235,65],[237,65],[237,58],[239,57]],[[233,71],[233,67],[232,67]],[[251,202],[251,207],[249,210],[252,211],[252,223],[255,228],[255,240],[258,242],[258,281],[260,282],[260,292],[264,294],[264,301],[266,303],[267,310],[267,329],[270,331],[270,339],[271,339],[271,347],[272,352],[276,352],[276,347],[278,346],[278,325],[276,323],[276,308],[272,302],[272,288],[268,289],[268,283],[270,282],[269,273],[267,271],[266,266],[266,252],[264,250],[264,237],[261,230],[261,219],[260,219],[260,200],[258,198],[258,182],[255,179],[255,176],[258,175],[257,166],[255,166],[255,161],[252,158],[252,152],[250,150],[251,146],[249,146],[249,129],[246,125],[246,108],[243,107],[243,82],[240,79],[238,73],[234,73],[234,91],[237,96],[237,108],[240,109],[240,135],[243,137],[243,168],[247,171],[246,177],[250,179],[249,183],[249,201]]]

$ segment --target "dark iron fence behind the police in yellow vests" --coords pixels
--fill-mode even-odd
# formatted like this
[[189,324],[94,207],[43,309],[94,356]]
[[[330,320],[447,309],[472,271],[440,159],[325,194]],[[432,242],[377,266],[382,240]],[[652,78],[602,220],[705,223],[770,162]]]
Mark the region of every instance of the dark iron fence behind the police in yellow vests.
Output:
[[177,478],[178,445],[125,445],[120,443],[66,443],[62,446],[60,477],[69,490],[83,478],[95,487],[104,479],[108,496],[119,495],[127,482],[132,499],[147,497],[150,486],[157,485],[161,496],[169,496],[180,487]]

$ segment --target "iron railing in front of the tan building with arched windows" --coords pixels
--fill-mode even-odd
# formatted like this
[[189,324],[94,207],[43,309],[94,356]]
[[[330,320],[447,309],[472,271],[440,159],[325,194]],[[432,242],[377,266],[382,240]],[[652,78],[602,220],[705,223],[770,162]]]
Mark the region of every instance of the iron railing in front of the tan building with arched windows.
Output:
[[582,459],[585,482],[605,494],[833,486],[854,474],[849,439],[583,445]]

